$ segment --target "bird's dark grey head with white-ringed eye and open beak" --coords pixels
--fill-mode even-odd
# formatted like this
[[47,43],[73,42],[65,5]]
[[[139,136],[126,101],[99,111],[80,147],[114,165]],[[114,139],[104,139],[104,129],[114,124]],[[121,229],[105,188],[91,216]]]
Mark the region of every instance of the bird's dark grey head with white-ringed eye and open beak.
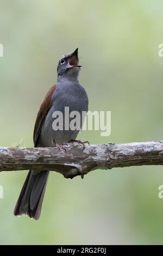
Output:
[[79,65],[78,48],[72,52],[63,55],[58,63],[58,80],[78,78],[82,66]]

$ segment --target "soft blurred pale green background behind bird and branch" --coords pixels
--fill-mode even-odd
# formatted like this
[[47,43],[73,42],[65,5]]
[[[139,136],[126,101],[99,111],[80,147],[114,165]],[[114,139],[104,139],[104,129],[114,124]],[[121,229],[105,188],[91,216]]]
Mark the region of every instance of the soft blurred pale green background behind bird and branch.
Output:
[[[1,147],[33,147],[37,111],[60,56],[79,47],[90,110],[111,111],[111,135],[90,143],[163,139],[163,2],[0,0]],[[2,172],[1,244],[162,244],[163,167],[51,173],[39,221],[14,217],[28,171]]]

